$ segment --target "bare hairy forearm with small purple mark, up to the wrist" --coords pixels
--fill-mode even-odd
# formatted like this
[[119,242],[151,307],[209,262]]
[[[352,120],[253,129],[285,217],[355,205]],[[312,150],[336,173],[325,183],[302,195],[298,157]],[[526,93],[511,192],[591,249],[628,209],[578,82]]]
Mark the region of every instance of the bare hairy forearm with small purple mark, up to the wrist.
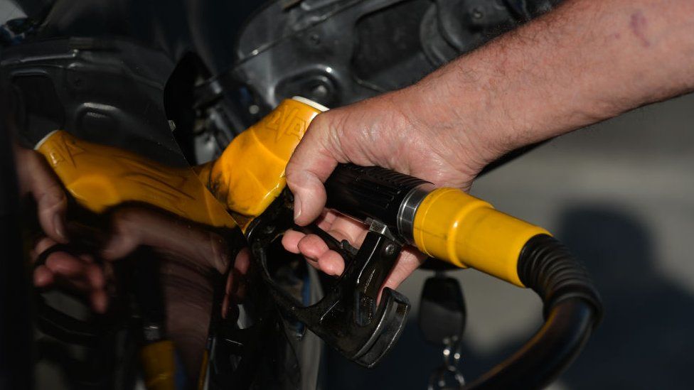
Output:
[[449,122],[439,128],[493,159],[691,90],[694,2],[568,0],[403,90],[402,102],[430,107],[418,120]]

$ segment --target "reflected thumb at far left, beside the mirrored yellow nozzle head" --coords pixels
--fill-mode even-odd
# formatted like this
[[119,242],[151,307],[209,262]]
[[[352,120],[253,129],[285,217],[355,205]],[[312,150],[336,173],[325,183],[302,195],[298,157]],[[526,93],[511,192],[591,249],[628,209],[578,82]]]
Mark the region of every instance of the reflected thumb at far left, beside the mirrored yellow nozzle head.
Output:
[[65,212],[68,197],[43,156],[24,148],[16,148],[17,173],[23,193],[31,193],[38,206],[38,221],[43,232],[56,242],[68,242]]

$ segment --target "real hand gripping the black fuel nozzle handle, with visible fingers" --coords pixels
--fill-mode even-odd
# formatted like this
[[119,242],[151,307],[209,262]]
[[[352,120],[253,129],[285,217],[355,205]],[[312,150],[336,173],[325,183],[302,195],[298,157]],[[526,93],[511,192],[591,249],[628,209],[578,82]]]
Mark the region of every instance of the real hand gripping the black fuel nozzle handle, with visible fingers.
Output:
[[[361,244],[365,225],[324,210],[323,183],[338,163],[382,166],[436,185],[468,190],[476,174],[504,149],[487,146],[478,129],[452,116],[450,107],[427,101],[431,88],[432,83],[425,80],[316,117],[287,165],[295,222],[305,225],[318,218],[319,227],[338,240]],[[344,269],[341,256],[316,235],[289,231],[282,243],[321,271],[339,275]],[[385,286],[397,287],[424,259],[415,249],[405,248]]]

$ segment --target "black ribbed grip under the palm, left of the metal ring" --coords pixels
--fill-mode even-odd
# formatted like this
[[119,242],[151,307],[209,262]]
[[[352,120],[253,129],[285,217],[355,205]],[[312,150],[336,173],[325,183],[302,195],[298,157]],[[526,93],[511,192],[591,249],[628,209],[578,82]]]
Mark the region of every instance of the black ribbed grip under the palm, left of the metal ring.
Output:
[[425,180],[376,166],[340,164],[326,181],[329,207],[358,220],[379,220],[397,232],[397,212]]

